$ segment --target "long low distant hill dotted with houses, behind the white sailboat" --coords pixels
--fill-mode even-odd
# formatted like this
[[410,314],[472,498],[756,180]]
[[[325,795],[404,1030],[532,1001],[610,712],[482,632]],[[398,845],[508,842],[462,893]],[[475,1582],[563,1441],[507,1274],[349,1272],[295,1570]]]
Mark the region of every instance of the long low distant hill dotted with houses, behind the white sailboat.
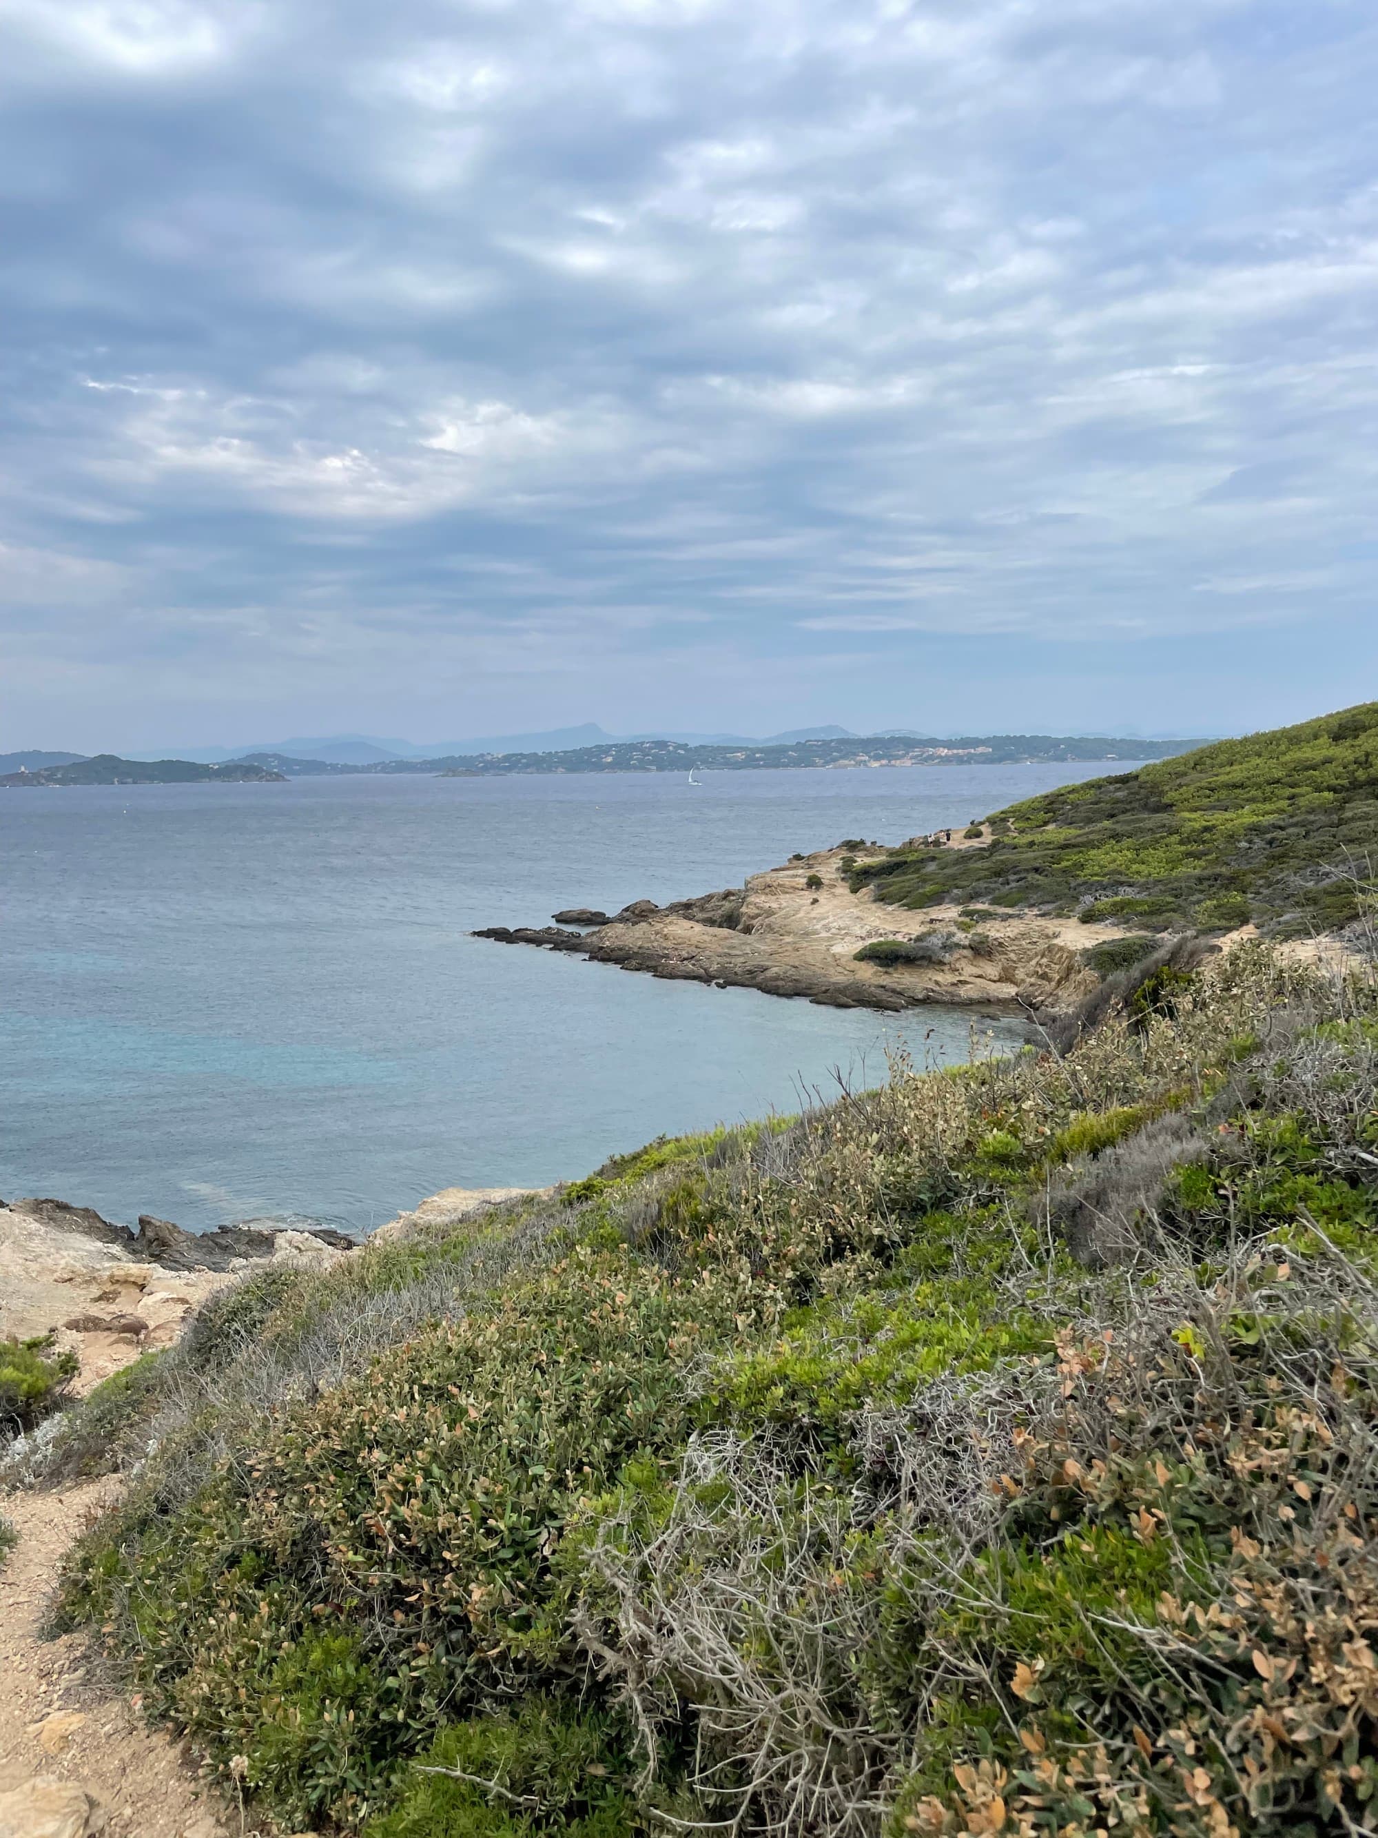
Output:
[[[1187,743],[1189,744],[1189,743]],[[797,766],[928,766],[928,765],[1022,765],[1075,759],[1163,759],[1180,752],[1180,741],[1113,741],[1095,735],[987,733],[955,741],[878,737],[792,741],[783,744],[740,741],[698,744],[689,741],[608,741],[568,754],[476,754],[450,759],[404,759],[377,766],[378,772],[454,772],[465,777],[502,772],[746,772]]]

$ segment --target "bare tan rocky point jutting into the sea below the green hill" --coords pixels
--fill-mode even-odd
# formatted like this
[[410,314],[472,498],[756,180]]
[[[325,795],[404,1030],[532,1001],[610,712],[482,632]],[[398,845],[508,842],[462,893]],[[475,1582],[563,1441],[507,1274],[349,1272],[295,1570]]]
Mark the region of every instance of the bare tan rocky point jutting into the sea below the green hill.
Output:
[[[1088,930],[1075,919],[987,913],[976,921],[955,906],[922,913],[884,906],[869,888],[851,891],[849,866],[865,853],[854,844],[819,849],[751,875],[742,888],[669,906],[636,901],[612,917],[571,906],[555,913],[564,923],[485,926],[472,936],[827,1007],[898,1011],[941,1002],[1000,1015],[1075,1007],[1099,981],[1082,950],[1121,936],[1119,926]],[[882,941],[906,947],[908,958],[858,959]]]

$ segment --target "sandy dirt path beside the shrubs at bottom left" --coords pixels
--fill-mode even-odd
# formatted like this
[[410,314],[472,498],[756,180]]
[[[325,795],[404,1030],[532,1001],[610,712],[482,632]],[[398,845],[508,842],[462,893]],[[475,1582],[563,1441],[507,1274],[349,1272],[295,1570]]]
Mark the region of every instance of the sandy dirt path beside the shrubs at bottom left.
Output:
[[90,1638],[40,1638],[62,1553],[112,1487],[0,1502],[20,1540],[0,1568],[0,1838],[239,1838],[239,1810],[112,1687]]

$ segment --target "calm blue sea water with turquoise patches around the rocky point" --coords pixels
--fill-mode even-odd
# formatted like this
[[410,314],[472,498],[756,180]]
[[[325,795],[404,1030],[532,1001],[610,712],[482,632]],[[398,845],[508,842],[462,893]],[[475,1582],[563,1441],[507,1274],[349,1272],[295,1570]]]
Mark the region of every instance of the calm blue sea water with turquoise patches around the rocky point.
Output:
[[706,893],[1101,770],[0,794],[0,1195],[367,1230],[439,1187],[575,1178],[661,1130],[875,1083],[887,1044],[965,1057],[968,1013],[821,1009],[467,934]]

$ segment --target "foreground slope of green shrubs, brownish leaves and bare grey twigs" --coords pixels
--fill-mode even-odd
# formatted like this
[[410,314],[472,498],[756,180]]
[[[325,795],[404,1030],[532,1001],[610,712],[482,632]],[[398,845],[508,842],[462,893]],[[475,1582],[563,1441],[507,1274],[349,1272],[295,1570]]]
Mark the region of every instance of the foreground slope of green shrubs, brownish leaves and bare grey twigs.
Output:
[[1371,1831],[1378,991],[1143,974],[219,1294],[62,1614],[283,1831]]

